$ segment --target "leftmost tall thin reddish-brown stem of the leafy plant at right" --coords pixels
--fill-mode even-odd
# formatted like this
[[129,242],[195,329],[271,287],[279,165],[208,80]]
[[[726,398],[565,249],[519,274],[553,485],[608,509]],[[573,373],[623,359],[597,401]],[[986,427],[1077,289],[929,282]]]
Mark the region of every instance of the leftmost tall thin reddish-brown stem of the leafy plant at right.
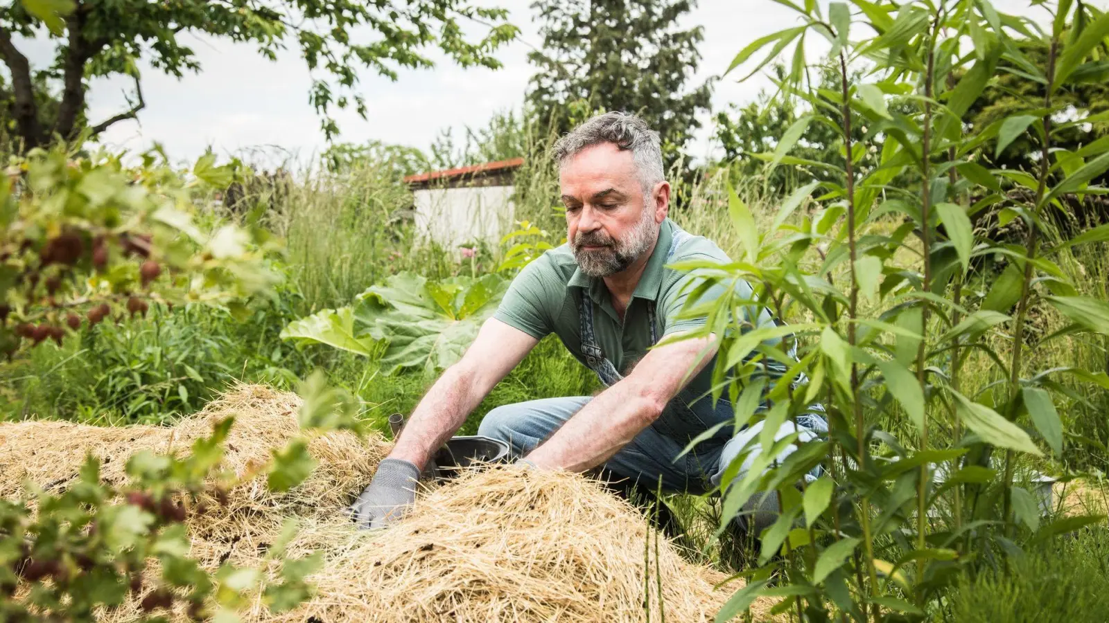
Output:
[[[855,245],[855,171],[852,162],[853,145],[851,142],[851,95],[847,89],[847,57],[840,52],[840,78],[843,95],[843,144],[847,153],[847,248],[851,253],[851,296],[847,304],[847,344],[855,346],[855,319],[858,314],[858,278],[855,274],[856,245]],[[866,464],[866,422],[863,421],[863,402],[858,391],[858,364],[851,364],[851,399],[852,409],[855,416],[855,436],[858,439],[858,467],[863,469]],[[863,497],[859,509],[859,522],[863,525],[863,540],[866,544],[866,569],[871,576],[871,590],[878,588],[878,574],[874,569],[874,543],[871,541],[871,502]],[[877,606],[874,612],[877,620]]]

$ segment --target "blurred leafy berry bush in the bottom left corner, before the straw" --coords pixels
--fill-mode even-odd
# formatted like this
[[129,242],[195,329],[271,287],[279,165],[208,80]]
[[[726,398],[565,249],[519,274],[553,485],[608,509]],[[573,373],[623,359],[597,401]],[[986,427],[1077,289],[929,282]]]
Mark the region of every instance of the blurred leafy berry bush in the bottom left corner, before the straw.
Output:
[[[304,435],[365,432],[356,404],[328,388],[322,374],[309,377],[301,394],[297,420]],[[180,601],[191,619],[236,621],[235,610],[258,592],[276,612],[311,596],[304,579],[318,566],[318,555],[283,560],[281,581],[265,586],[260,570],[224,563],[210,573],[187,555],[184,521],[210,512],[203,500],[218,502],[231,488],[261,477],[272,491],[285,491],[315,468],[306,438],[298,437],[275,449],[266,464],[224,473],[220,466],[233,423],[234,418],[216,423],[185,457],[135,453],[125,484],[103,481],[100,461],[90,456],[61,493],[28,484],[21,500],[0,500],[0,619],[92,622],[129,596],[142,596],[144,614],[169,611]],[[267,558],[282,559],[294,534],[295,525],[287,525]]]

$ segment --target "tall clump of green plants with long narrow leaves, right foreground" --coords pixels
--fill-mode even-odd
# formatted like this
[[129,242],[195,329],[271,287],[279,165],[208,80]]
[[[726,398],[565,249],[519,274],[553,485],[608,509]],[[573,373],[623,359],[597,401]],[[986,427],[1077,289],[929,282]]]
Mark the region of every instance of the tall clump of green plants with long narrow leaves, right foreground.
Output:
[[[698,292],[726,292],[686,310],[706,315],[702,335],[720,340],[714,398],[726,394],[736,406],[736,427],[765,420],[764,435],[725,471],[722,520],[753,497],[776,491],[781,503],[760,535],[759,566],[718,621],[759,595],[784,598],[779,612],[804,621],[922,620],[959,573],[1103,519],[1044,519],[1017,474],[1020,466],[1061,469],[1055,378],[1109,389],[1105,372],[1041,370],[1030,355],[1045,340],[1109,335],[1109,304],[1080,295],[1052,261],[1109,239],[1109,225],[1060,239],[1046,218],[1068,195],[1107,192],[1091,181],[1109,170],[1109,137],[1070,152],[1052,147],[1052,136],[1096,121],[1056,102],[1060,90],[1109,71],[1109,14],[1076,0],[1041,2],[1051,17],[1045,30],[989,0],[851,0],[826,12],[814,0],[775,1],[802,23],[751,43],[729,71],[767,47],[749,75],[792,52],[780,93],[808,114],[773,153],[752,155],[820,167],[840,182],[797,188],[763,232],[733,193],[744,256],[681,265],[705,276]],[[832,45],[837,90],[807,81],[813,35]],[[1030,53],[1037,49],[1046,54]],[[859,70],[866,78],[851,80]],[[1038,95],[967,132],[969,108],[1001,71],[1037,83]],[[845,167],[790,155],[810,123],[838,131]],[[978,163],[983,150],[1000,152],[1026,133],[1040,146],[1036,171]],[[878,154],[877,164],[861,168],[864,153]],[[803,205],[812,210],[795,217]],[[976,231],[984,211],[1018,224],[1025,244]],[[987,257],[1009,267],[985,294],[971,292],[965,284]],[[753,286],[752,298],[739,294],[737,279]],[[1029,312],[1049,307],[1069,324],[1037,343]],[[752,308],[800,321],[753,327],[744,324],[757,317]],[[989,361],[997,380],[960,378],[968,358]],[[814,402],[826,409],[827,435],[774,440]],[[912,426],[886,426],[898,421]],[[791,443],[797,450],[776,462]],[[744,459],[754,464],[740,473]],[[818,466],[823,476],[806,480]]]

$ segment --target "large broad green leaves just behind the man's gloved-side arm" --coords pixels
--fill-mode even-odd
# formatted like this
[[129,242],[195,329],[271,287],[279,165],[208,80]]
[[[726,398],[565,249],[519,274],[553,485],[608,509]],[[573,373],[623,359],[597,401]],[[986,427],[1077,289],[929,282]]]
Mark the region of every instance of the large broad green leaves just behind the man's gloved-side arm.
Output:
[[289,323],[281,337],[380,355],[386,374],[404,368],[434,371],[461,357],[507,288],[495,274],[435,282],[400,273],[367,288],[349,307]]

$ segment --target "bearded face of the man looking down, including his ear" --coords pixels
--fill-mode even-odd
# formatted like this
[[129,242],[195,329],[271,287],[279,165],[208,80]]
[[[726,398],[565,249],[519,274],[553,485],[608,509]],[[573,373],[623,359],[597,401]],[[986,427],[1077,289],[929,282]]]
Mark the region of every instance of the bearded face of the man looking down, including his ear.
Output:
[[586,147],[559,171],[567,241],[587,275],[608,277],[647,253],[670,207],[670,184],[644,196],[630,151],[612,143]]

